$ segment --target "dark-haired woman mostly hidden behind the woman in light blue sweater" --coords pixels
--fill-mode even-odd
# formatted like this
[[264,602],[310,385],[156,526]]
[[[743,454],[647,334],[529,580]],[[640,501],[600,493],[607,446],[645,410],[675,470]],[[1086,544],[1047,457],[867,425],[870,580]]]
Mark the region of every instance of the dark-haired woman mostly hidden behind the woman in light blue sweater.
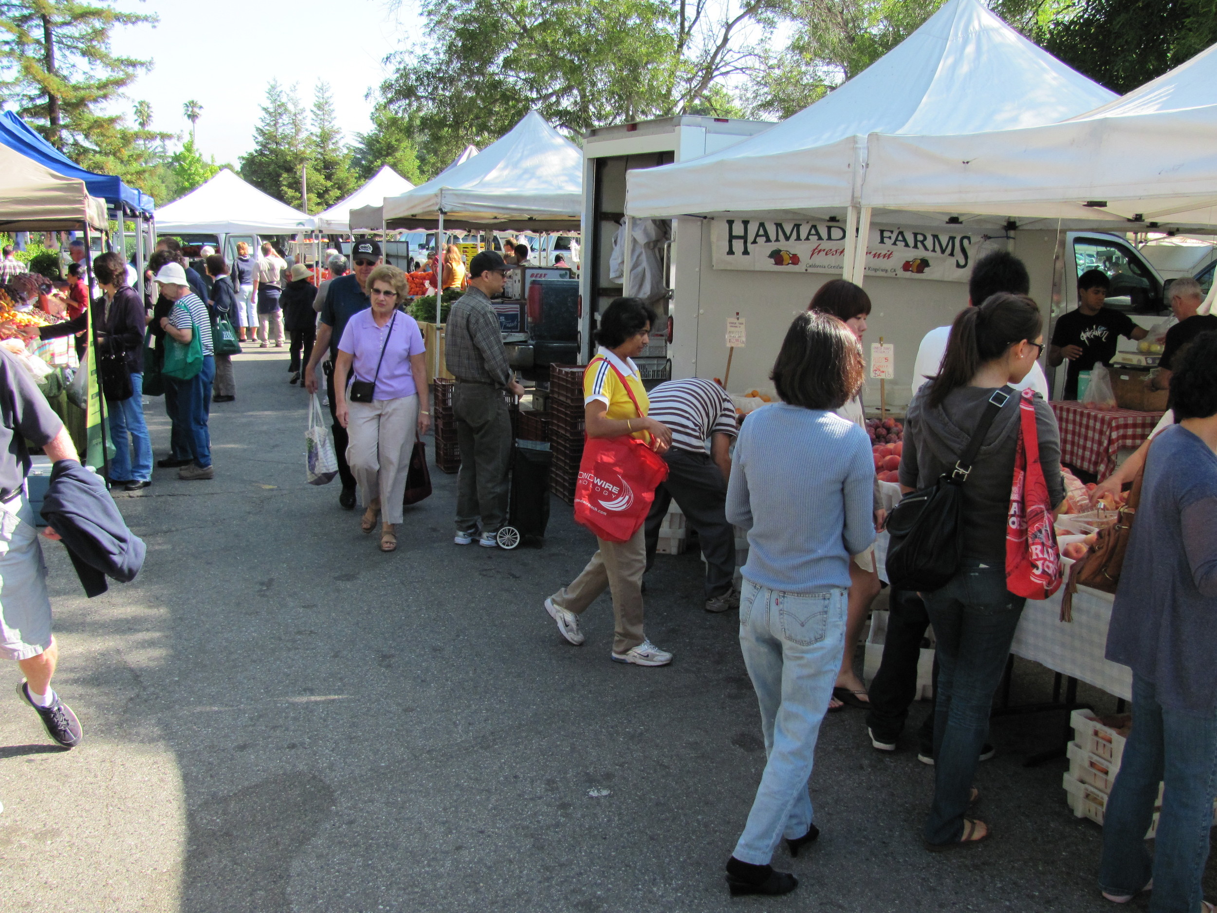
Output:
[[[834,279],[819,287],[812,296],[812,303],[807,306],[807,309],[837,318],[849,327],[849,332],[857,337],[858,345],[862,346],[862,336],[867,332],[867,318],[870,315],[870,296],[862,290],[862,286],[845,279]],[[859,387],[858,392],[837,409],[837,415],[848,419],[865,431],[867,411],[862,403],[862,390]],[[884,527],[884,502],[879,492],[877,476],[875,476],[873,488],[875,528],[881,530]],[[853,655],[858,646],[858,637],[862,634],[862,626],[870,611],[870,604],[875,601],[879,590],[875,547],[871,545],[849,560],[849,618],[845,628],[845,654],[841,657],[841,671],[837,673],[836,685],[832,688],[829,710],[840,710],[845,705],[851,707],[868,707],[870,705],[867,687],[853,671]]]

